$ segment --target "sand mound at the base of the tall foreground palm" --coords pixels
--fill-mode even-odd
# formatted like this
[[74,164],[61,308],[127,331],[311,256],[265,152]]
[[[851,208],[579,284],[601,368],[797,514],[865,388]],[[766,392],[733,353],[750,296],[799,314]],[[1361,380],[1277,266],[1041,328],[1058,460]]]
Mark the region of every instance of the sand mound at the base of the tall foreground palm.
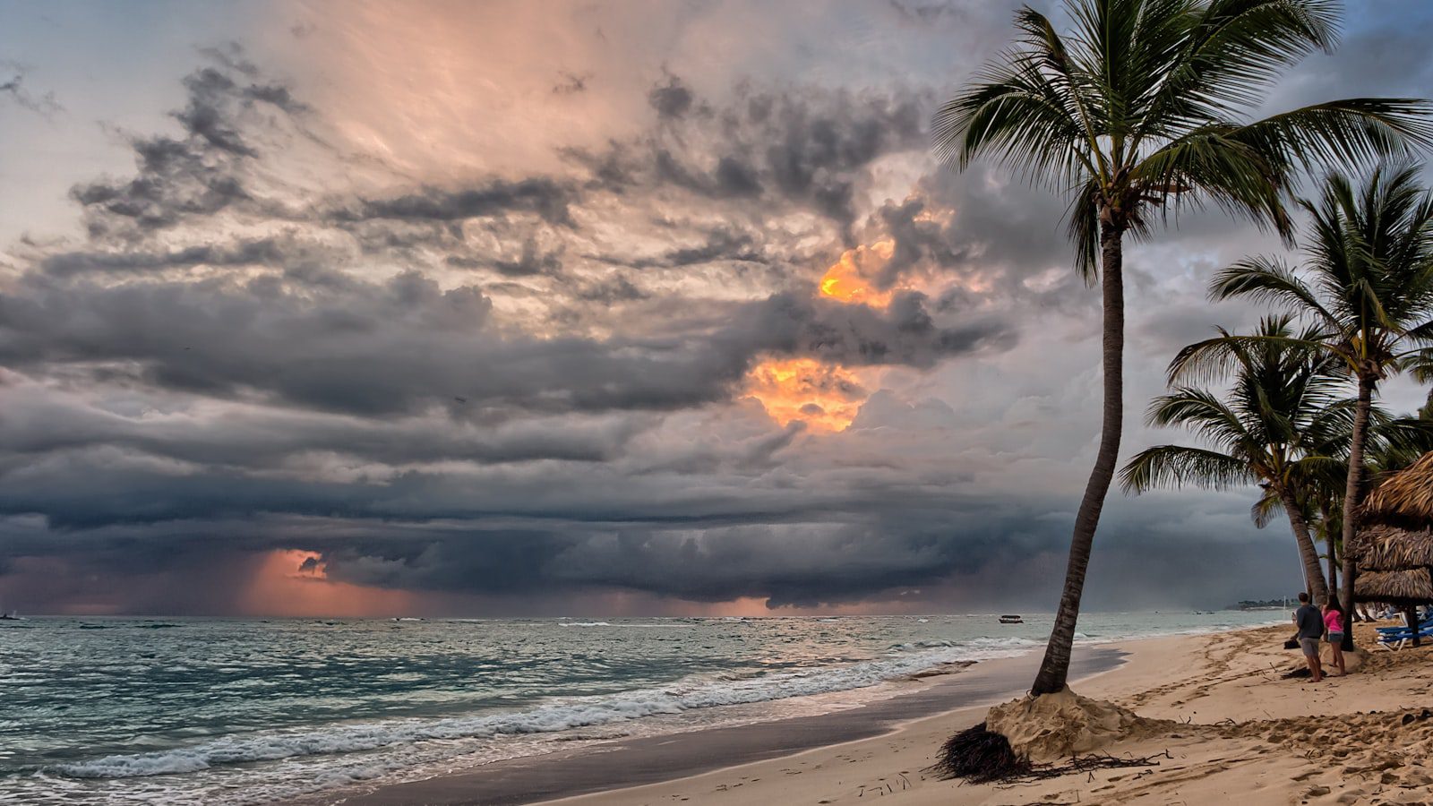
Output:
[[1113,703],[1080,697],[1069,688],[1012,700],[986,714],[989,730],[1009,739],[1016,753],[1036,763],[1095,753],[1171,726],[1174,723],[1144,719]]

